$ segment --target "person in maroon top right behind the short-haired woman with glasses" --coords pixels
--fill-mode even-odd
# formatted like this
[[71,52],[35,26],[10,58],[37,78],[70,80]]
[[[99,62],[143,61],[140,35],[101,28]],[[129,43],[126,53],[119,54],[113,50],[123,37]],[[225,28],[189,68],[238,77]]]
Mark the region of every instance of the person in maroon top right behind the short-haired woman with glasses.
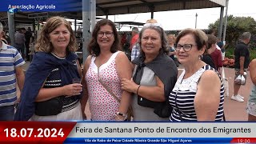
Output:
[[222,62],[222,52],[216,48],[217,38],[214,35],[207,34],[208,37],[208,46],[210,47],[207,51],[210,54],[210,57],[214,61],[215,70],[219,72],[219,68],[223,66]]

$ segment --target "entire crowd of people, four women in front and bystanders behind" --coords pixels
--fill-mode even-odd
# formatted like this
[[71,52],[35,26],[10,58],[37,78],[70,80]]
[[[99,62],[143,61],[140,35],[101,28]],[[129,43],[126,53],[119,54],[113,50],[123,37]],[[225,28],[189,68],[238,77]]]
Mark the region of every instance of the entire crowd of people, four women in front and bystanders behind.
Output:
[[[82,70],[70,22],[55,16],[43,26],[24,75],[21,66],[28,58],[24,51],[29,51],[30,31],[18,30],[10,46],[0,23],[0,38],[6,40],[0,43],[2,121],[81,121],[86,119],[87,103],[92,121],[223,120],[225,89],[219,69],[225,50],[214,34],[185,29],[166,35],[162,25],[150,19],[142,30],[132,29],[127,55],[114,22],[102,19],[92,31],[90,55]],[[243,33],[234,50],[234,79],[244,78],[234,81],[231,99],[238,102],[244,102],[238,90],[246,83],[249,64],[255,81],[256,61],[250,62],[247,46],[250,37]],[[178,74],[180,65],[183,71]],[[255,99],[254,82],[246,107],[249,121],[256,120]]]

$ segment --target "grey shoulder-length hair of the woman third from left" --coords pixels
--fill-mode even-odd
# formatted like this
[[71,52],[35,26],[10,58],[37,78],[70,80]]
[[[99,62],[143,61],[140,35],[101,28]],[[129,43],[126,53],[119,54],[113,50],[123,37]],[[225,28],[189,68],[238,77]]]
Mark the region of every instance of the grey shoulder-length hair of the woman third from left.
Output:
[[[158,34],[160,35],[160,39],[161,39],[162,43],[161,43],[161,48],[159,50],[159,54],[161,54],[161,53],[168,54],[169,51],[170,51],[170,48],[168,47],[166,33],[162,29],[161,26],[158,26],[158,23],[150,23],[150,25],[144,26],[142,28],[142,30],[138,34],[139,35],[139,37],[138,37],[138,44],[142,47],[142,34],[147,29],[156,30],[158,32]],[[143,52],[142,49],[141,49],[141,53],[140,54],[142,55],[142,58],[145,58],[145,53]]]

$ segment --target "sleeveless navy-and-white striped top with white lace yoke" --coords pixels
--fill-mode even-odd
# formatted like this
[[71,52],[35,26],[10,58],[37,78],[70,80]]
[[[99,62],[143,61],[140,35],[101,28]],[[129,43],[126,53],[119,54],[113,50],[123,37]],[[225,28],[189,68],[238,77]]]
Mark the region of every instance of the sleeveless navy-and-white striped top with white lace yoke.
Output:
[[[185,71],[182,72],[178,78],[174,89],[169,96],[170,105],[174,107],[172,114],[170,115],[170,121],[197,121],[197,115],[194,110],[194,97],[197,93],[198,80],[206,70],[214,70],[209,65],[203,66],[190,78],[183,79]],[[214,70],[216,74],[218,72]],[[224,104],[224,86],[221,82],[220,89],[220,102],[218,106],[218,113],[216,114],[215,121],[222,121],[223,117],[223,104]],[[207,95],[206,95],[207,96]],[[175,99],[176,98],[176,99]],[[177,109],[178,107],[178,109]],[[179,113],[178,113],[179,110]]]

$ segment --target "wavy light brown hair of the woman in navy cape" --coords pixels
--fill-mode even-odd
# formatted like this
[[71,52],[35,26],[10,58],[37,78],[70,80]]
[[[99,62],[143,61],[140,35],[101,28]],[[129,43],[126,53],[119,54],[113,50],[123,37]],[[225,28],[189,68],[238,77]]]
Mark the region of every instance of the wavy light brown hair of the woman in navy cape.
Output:
[[67,30],[70,32],[70,43],[66,47],[66,50],[72,52],[78,50],[78,44],[70,26],[70,22],[67,22],[65,18],[56,16],[47,19],[46,24],[42,27],[40,36],[35,44],[35,51],[42,51],[46,53],[52,52],[54,46],[50,42],[50,33],[61,25],[66,26]]

